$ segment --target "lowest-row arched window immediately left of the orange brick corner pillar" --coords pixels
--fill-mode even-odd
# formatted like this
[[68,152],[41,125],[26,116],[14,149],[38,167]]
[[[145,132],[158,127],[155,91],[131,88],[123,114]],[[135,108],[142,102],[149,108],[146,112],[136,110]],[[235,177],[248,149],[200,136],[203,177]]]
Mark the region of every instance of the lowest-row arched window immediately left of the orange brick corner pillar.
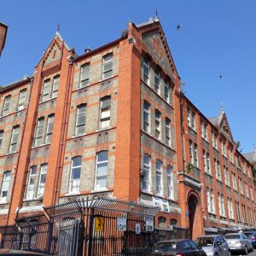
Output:
[[96,189],[107,187],[108,175],[108,151],[98,152],[96,155]]

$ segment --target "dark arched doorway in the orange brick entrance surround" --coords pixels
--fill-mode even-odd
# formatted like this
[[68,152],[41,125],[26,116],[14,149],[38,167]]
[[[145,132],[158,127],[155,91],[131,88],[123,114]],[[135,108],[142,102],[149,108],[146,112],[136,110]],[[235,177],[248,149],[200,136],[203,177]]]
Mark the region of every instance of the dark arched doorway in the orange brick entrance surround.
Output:
[[[198,199],[194,194],[189,195],[188,198],[188,209],[189,209],[189,230],[190,239],[195,239],[199,234],[199,227],[196,226],[199,215]],[[197,223],[199,224],[199,223]]]

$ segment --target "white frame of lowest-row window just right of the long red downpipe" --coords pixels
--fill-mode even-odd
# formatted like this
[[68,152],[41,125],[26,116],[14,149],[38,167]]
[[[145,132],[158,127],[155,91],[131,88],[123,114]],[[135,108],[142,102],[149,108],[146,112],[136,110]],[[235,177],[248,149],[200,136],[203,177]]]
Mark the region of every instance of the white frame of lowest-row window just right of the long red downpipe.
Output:
[[[74,166],[74,162],[76,159],[80,160],[80,165]],[[80,189],[80,178],[81,178],[81,171],[82,171],[82,163],[83,159],[81,155],[73,157],[71,161],[71,168],[70,168],[70,176],[69,176],[69,186],[68,186],[68,193],[69,194],[77,194],[79,193]],[[79,169],[79,177],[78,178],[73,178],[73,172]]]

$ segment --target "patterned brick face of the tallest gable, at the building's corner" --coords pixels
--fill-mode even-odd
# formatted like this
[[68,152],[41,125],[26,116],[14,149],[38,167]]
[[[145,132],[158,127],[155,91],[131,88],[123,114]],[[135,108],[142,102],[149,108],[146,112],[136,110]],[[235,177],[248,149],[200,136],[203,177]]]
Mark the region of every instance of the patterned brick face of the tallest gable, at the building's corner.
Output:
[[169,48],[163,38],[160,28],[156,27],[152,30],[146,30],[142,36],[143,43],[148,47],[148,54],[151,55],[166,73],[174,73],[174,65],[172,64]]

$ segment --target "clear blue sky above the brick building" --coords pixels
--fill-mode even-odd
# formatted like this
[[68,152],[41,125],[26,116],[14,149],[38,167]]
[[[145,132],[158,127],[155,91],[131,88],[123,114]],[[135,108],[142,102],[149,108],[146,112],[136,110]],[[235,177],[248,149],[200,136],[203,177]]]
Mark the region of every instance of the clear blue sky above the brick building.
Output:
[[[221,102],[242,152],[256,143],[256,1],[1,1],[0,20],[9,25],[0,59],[0,84],[33,73],[53,38],[61,35],[79,55],[119,38],[128,21],[142,23],[158,10],[184,90],[207,117]],[[177,32],[177,24],[182,28]],[[219,76],[222,79],[219,79]]]

